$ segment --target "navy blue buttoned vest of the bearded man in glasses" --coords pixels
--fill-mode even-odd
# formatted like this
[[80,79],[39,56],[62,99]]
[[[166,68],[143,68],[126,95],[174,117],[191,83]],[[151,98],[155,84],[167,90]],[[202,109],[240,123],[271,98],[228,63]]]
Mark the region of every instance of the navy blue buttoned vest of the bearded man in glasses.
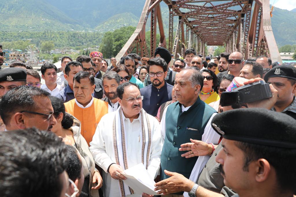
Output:
[[140,89],[143,99],[143,109],[150,115],[156,116],[158,108],[161,104],[172,100],[173,86],[167,84],[160,89],[154,87],[152,84]]

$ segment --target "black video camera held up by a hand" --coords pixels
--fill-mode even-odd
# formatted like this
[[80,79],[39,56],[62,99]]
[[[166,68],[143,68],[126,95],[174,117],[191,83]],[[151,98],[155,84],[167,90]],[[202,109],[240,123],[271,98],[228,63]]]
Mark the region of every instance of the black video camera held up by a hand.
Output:
[[223,92],[220,98],[220,105],[242,105],[272,97],[269,84],[264,81],[254,82],[238,87],[233,92]]

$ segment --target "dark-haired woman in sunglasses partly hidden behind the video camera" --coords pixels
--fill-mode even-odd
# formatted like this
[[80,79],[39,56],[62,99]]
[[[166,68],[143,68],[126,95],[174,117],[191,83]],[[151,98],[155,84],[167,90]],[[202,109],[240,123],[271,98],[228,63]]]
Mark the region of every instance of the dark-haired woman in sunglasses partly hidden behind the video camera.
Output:
[[[232,80],[234,79],[234,76],[232,74],[226,74],[223,75],[221,78],[219,78],[218,81],[218,88],[217,92],[219,97],[221,97],[221,94],[226,91],[226,88],[231,84]],[[212,108],[214,108],[216,111],[219,111],[219,105],[220,105],[220,99],[214,102],[211,102],[209,104]]]

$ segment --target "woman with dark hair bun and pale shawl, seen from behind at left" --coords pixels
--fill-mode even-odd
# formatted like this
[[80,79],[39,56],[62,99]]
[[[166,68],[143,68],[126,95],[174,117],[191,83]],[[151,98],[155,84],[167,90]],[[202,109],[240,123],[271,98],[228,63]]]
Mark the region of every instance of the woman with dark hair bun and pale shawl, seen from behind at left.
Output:
[[[54,109],[54,118],[57,124],[52,127],[52,132],[57,136],[67,139],[78,150],[83,165],[84,183],[80,196],[99,196],[98,189],[102,187],[102,177],[95,168],[94,158],[89,151],[86,140],[81,135],[81,123],[74,116],[65,113],[64,101],[57,97],[49,97]],[[95,181],[96,183],[93,183]]]

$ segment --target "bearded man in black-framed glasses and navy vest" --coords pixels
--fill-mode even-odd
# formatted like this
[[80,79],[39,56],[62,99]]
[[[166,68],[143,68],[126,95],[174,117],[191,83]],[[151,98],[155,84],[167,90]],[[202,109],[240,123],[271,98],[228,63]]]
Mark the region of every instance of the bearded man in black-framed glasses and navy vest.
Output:
[[153,58],[147,61],[148,74],[152,84],[140,90],[143,99],[143,109],[156,116],[163,103],[172,100],[173,86],[165,81],[168,65],[163,58]]

